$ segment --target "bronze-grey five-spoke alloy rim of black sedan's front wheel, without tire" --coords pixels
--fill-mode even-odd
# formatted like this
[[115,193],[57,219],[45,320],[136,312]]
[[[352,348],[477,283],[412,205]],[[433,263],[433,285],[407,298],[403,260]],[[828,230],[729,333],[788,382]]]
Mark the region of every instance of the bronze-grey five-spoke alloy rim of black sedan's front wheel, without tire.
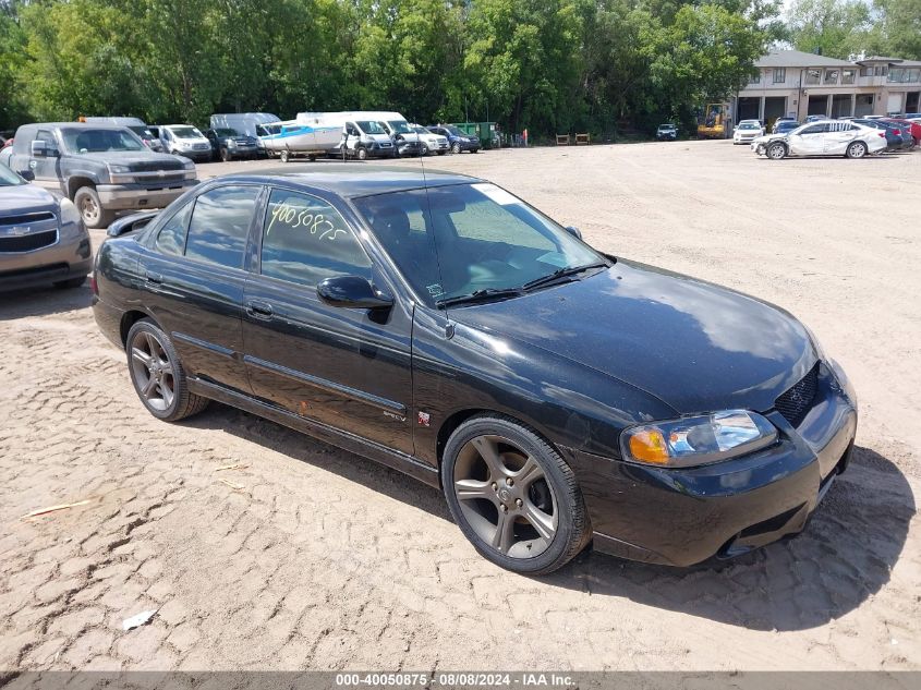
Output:
[[557,499],[541,463],[501,436],[476,436],[461,448],[452,488],[464,520],[510,558],[544,553],[557,534]]

